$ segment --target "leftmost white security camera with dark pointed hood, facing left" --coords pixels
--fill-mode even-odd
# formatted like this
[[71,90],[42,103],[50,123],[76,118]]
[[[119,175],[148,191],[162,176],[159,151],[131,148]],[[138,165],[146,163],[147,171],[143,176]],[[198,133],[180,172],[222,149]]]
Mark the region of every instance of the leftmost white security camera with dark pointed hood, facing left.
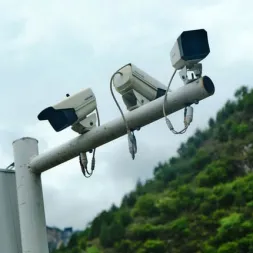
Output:
[[96,114],[89,115],[96,109],[95,95],[88,88],[47,107],[40,112],[38,119],[48,120],[56,132],[72,126],[72,130],[83,134],[96,126]]

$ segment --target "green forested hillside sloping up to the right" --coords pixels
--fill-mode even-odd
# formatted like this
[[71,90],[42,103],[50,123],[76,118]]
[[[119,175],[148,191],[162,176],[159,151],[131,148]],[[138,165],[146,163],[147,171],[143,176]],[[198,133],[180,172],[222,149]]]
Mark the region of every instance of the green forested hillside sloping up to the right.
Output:
[[253,90],[241,87],[152,180],[55,253],[253,252],[252,112]]

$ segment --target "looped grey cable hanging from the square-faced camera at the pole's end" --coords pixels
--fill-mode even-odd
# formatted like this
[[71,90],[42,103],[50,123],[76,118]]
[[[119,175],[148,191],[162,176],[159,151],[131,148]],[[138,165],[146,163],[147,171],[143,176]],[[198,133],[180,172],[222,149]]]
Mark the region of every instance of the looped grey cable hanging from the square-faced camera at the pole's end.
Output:
[[165,95],[164,95],[164,101],[163,101],[163,115],[164,115],[164,118],[165,118],[165,122],[168,126],[168,128],[171,130],[172,133],[174,134],[184,134],[187,130],[187,128],[189,127],[191,121],[192,121],[192,118],[193,118],[193,108],[191,106],[188,106],[188,107],[185,107],[184,108],[184,124],[185,124],[185,127],[181,130],[181,131],[176,131],[171,123],[171,121],[169,120],[169,118],[167,117],[166,115],[166,112],[165,112],[165,104],[167,102],[167,95],[168,95],[168,91],[169,91],[169,88],[171,86],[171,83],[173,81],[173,78],[176,74],[177,70],[175,69],[171,78],[170,78],[170,81],[168,83],[168,87],[166,89],[166,92],[165,92]]

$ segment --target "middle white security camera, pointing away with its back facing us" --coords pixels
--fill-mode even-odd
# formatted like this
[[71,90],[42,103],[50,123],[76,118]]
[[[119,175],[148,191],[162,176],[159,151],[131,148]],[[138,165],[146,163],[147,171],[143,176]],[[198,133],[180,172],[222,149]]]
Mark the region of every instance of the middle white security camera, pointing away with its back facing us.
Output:
[[129,111],[163,96],[166,92],[165,85],[131,63],[114,74],[113,84]]

